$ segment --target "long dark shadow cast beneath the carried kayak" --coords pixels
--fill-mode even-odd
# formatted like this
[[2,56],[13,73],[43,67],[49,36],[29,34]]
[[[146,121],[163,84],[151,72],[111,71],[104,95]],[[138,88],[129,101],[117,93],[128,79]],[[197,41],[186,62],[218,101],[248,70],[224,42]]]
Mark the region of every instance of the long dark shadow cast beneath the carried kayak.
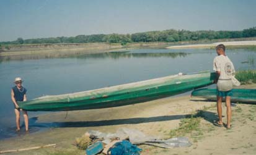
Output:
[[[74,121],[74,122],[37,122],[38,117],[32,117],[29,119],[30,133],[40,132],[47,128],[69,128],[69,127],[100,127],[107,125],[123,125],[123,124],[143,124],[149,122],[162,122],[168,120],[179,120],[190,117],[201,117],[206,121],[213,123],[213,120],[218,119],[218,116],[214,112],[198,111],[196,114],[185,115],[163,115],[156,117],[138,117],[131,119],[112,119],[112,120],[95,120],[95,121]],[[24,128],[24,124],[21,125]],[[25,132],[15,132],[15,127],[9,128],[6,131],[0,132],[0,139],[11,138],[15,136],[27,135]]]

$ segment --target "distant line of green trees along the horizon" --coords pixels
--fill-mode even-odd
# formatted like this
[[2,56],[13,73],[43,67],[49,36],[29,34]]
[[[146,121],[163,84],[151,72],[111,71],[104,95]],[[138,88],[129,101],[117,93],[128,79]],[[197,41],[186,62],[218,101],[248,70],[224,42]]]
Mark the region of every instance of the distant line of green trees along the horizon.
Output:
[[56,43],[136,43],[151,41],[195,41],[195,40],[213,40],[224,38],[244,38],[256,36],[256,27],[244,29],[242,31],[188,31],[188,30],[164,30],[164,31],[147,31],[120,35],[113,33],[110,35],[78,35],[71,37],[56,38],[37,38],[23,40],[18,38],[15,41],[4,41],[1,44],[56,44]]

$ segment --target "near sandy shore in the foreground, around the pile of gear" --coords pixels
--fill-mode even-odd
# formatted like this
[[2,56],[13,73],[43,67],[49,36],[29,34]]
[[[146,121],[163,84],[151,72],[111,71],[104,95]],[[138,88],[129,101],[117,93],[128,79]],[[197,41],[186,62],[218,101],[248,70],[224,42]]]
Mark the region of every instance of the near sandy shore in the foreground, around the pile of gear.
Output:
[[[243,85],[255,88],[256,85]],[[224,121],[226,108],[223,106]],[[199,110],[199,111],[198,111]],[[76,137],[88,130],[115,132],[118,128],[136,128],[147,135],[161,138],[187,136],[192,142],[189,148],[161,149],[153,146],[143,148],[141,154],[255,154],[256,105],[237,104],[232,107],[231,130],[215,127],[212,121],[217,119],[214,102],[190,96],[157,99],[130,106],[95,109],[89,111],[56,112],[39,115],[30,120],[35,125],[48,125],[49,130],[21,135],[0,141],[0,150],[28,148],[32,146],[56,143],[56,148],[42,148],[10,154],[84,154],[73,146]],[[186,128],[184,120],[190,119],[198,124],[195,128]],[[24,129],[24,128],[22,128]],[[183,133],[180,133],[182,130]]]

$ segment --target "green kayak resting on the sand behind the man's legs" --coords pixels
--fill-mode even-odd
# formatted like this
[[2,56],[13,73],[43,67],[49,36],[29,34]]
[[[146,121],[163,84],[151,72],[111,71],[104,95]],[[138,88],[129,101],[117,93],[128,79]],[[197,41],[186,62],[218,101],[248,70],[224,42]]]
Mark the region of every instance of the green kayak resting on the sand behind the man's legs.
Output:
[[[256,103],[256,89],[233,89],[232,103]],[[192,96],[216,101],[216,89],[198,89],[192,91]]]

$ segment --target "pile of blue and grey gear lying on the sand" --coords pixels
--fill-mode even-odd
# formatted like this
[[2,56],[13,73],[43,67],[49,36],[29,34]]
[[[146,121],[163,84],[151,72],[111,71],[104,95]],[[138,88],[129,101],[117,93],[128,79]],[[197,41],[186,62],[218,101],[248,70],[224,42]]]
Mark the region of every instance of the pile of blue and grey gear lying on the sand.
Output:
[[86,132],[81,138],[76,138],[76,146],[86,149],[87,155],[99,153],[112,155],[138,155],[142,149],[136,145],[151,145],[160,148],[188,147],[188,138],[170,138],[159,140],[154,136],[147,136],[143,132],[130,128],[119,128],[116,133],[102,133],[95,130]]

